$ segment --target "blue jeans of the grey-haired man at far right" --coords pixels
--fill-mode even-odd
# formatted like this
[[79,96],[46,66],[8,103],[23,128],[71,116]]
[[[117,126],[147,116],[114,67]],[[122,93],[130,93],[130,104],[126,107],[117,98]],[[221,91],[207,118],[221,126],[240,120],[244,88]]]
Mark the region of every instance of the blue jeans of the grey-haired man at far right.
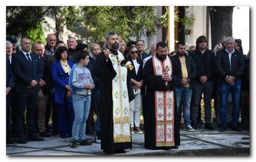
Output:
[[232,126],[237,126],[239,121],[240,95],[241,95],[241,79],[235,81],[235,85],[229,85],[226,81],[220,84],[220,119],[221,125],[227,126],[227,98],[229,92],[232,94],[233,113]]

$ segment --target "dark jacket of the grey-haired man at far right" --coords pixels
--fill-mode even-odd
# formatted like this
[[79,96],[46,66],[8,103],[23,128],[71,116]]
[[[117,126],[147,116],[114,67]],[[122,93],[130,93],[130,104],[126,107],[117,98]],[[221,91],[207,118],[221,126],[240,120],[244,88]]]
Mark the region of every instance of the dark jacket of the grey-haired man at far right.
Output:
[[225,49],[218,51],[216,54],[216,73],[222,80],[226,76],[234,76],[240,79],[244,72],[244,56],[240,51],[236,51],[231,56],[231,67],[229,63],[229,54]]

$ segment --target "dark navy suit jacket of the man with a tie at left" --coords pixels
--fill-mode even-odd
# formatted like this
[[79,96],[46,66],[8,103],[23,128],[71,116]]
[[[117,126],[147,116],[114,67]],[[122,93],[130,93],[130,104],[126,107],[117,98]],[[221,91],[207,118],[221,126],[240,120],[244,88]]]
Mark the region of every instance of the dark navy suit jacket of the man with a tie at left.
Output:
[[29,66],[27,57],[19,51],[19,53],[12,56],[13,71],[16,76],[15,91],[29,92],[31,90],[39,91],[39,84],[34,88],[28,88],[32,80],[40,82],[43,77],[43,70],[40,63],[40,58],[37,54],[30,53],[32,59],[32,68]]

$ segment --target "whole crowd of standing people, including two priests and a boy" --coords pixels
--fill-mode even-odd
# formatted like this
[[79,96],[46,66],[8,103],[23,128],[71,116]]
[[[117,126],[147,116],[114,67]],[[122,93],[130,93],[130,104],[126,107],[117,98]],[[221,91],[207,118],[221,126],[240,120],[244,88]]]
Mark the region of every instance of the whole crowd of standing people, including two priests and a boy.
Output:
[[144,134],[147,149],[177,149],[183,127],[249,130],[249,53],[240,39],[226,37],[209,50],[199,36],[189,50],[179,41],[171,53],[157,42],[149,54],[144,40],[126,44],[112,31],[90,48],[55,34],[46,45],[22,37],[18,50],[17,42],[6,41],[7,144],[59,135],[75,148],[91,145],[92,134],[106,154],[117,154],[132,147],[132,134]]

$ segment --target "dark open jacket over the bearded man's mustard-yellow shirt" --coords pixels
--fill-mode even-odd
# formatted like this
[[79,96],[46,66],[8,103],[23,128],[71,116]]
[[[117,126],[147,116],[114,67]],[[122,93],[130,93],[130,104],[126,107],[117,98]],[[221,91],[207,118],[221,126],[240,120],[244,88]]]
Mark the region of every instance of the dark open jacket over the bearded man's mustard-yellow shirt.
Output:
[[[181,69],[181,61],[179,60],[179,55],[174,54],[171,57],[173,57],[175,64],[177,66],[179,66],[179,68]],[[193,83],[193,80],[196,78],[195,61],[193,60],[193,58],[191,56],[185,54],[185,62],[186,62],[186,66],[187,66],[188,79],[190,79],[190,83]],[[181,71],[181,77],[182,77],[182,71]]]

